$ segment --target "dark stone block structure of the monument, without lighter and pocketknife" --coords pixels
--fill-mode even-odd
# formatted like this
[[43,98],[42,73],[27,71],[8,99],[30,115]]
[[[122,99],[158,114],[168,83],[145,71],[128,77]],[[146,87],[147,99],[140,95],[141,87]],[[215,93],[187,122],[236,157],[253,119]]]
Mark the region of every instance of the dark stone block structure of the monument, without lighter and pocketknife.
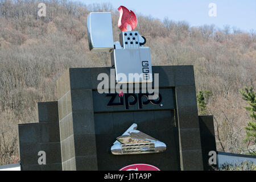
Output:
[[[139,105],[139,99],[135,102],[125,95],[123,105],[107,106],[110,98],[97,93],[101,82],[97,76],[110,75],[110,68],[69,68],[57,80],[57,108],[56,102],[39,104],[42,125],[19,126],[21,158],[28,162],[24,168],[57,169],[61,164],[63,170],[118,170],[133,163],[147,163],[161,170],[203,170],[205,154],[214,145],[205,143],[213,141],[214,130],[209,118],[199,123],[193,66],[155,66],[152,72],[159,73],[161,102],[147,103],[143,96],[142,103],[147,104]],[[119,101],[117,96],[114,102]],[[48,124],[56,120],[56,111],[59,135],[53,134],[57,125]],[[166,143],[166,151],[112,155],[110,147],[115,138],[133,123],[138,124],[138,130]],[[54,144],[58,137],[59,146]],[[42,147],[50,153],[55,147],[59,149],[49,159],[52,164],[38,167],[34,162],[38,158],[28,159],[28,155]]]

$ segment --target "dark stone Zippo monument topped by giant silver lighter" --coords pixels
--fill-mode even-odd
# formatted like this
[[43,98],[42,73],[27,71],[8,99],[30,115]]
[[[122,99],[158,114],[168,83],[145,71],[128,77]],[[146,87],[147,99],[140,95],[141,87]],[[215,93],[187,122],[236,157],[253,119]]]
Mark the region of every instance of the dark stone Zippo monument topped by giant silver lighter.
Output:
[[[22,170],[209,170],[216,151],[212,116],[197,112],[192,65],[151,66],[133,11],[88,15],[92,51],[110,51],[113,67],[69,68],[57,101],[39,102],[38,123],[18,126]],[[104,27],[104,28],[102,28]]]

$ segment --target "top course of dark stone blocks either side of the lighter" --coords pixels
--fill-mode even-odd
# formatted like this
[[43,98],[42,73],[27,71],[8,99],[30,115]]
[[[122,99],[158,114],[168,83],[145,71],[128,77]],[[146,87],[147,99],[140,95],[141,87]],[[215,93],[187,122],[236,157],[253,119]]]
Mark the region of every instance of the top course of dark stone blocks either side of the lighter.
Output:
[[[97,89],[102,81],[97,80],[98,75],[106,73],[110,76],[110,69],[114,68],[69,68],[67,72],[70,74],[71,89]],[[67,72],[64,73],[63,78],[67,76]],[[159,73],[160,87],[195,85],[193,65],[153,66],[152,73]]]

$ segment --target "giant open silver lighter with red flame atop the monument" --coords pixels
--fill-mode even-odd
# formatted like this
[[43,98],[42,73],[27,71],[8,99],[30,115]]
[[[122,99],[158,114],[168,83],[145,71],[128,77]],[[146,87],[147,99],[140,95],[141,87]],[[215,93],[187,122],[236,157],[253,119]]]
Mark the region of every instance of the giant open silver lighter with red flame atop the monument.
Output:
[[[113,42],[111,13],[90,13],[87,20],[90,50],[110,51],[118,84],[152,82],[150,48],[144,47],[146,38],[132,31],[137,26],[133,11],[118,8],[118,27],[122,31],[119,42]],[[129,75],[130,74],[130,75]],[[122,80],[125,75],[127,80]],[[133,80],[128,79],[129,76]]]

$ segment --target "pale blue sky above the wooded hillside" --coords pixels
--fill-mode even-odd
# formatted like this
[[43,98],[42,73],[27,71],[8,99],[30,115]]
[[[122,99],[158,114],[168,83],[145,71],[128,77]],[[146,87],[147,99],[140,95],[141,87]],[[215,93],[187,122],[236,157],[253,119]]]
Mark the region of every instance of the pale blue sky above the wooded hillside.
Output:
[[[133,10],[134,13],[151,15],[163,20],[165,16],[178,21],[185,20],[191,26],[215,24],[223,28],[228,24],[249,32],[256,31],[256,0],[72,0],[85,4],[110,2],[117,9],[120,5]],[[210,17],[208,7],[216,4],[217,16]]]

